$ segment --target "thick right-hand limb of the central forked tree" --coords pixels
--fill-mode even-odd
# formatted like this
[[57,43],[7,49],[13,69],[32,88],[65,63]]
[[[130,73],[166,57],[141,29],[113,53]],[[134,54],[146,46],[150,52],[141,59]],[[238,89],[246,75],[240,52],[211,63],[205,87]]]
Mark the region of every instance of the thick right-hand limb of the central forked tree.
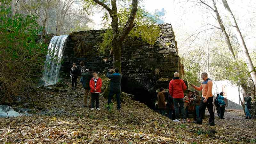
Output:
[[138,0],[132,0],[132,10],[129,16],[128,21],[126,22],[126,25],[124,26],[124,29],[122,33],[120,34],[120,41],[123,41],[124,38],[129,34],[129,32],[132,30],[132,28],[135,26],[135,16],[138,11]]

